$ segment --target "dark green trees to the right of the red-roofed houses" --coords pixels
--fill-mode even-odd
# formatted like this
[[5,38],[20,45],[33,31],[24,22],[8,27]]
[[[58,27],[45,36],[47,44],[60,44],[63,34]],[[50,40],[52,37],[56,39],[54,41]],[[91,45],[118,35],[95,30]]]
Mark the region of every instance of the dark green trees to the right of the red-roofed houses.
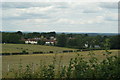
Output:
[[[69,39],[70,37],[71,39]],[[70,48],[95,48],[99,46],[102,49],[120,49],[120,35],[115,36],[89,36],[88,34],[60,34],[58,35],[57,46],[60,47],[70,47]],[[85,47],[85,44],[87,46]]]

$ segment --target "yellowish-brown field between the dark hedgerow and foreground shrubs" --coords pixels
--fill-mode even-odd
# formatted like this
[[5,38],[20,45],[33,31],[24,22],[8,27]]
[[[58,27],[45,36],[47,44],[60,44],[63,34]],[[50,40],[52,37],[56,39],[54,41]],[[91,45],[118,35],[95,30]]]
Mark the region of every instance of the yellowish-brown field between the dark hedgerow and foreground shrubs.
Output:
[[[120,50],[110,50],[112,52],[111,55],[118,56],[118,51]],[[104,50],[97,50],[93,51],[98,58],[98,60],[103,60],[105,56],[103,54],[105,53]],[[50,64],[53,62],[53,57],[56,58],[56,66],[59,64],[59,61],[61,60],[62,65],[68,65],[71,58],[74,58],[77,56],[77,54],[83,55],[86,60],[90,58],[89,51],[83,51],[83,52],[76,52],[76,53],[56,53],[56,54],[34,54],[34,55],[15,55],[15,56],[3,56],[2,57],[2,70],[3,73],[9,71],[9,69],[17,69],[19,67],[19,64],[22,63],[22,66],[26,66],[27,64],[34,64],[34,67],[37,67],[37,65],[40,64]],[[4,74],[3,74],[4,76]]]

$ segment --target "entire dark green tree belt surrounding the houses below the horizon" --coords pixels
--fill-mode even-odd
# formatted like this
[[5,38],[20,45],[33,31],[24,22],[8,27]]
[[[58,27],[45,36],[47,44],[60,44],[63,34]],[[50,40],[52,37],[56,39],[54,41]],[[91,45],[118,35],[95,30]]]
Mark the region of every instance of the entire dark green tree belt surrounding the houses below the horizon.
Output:
[[[114,36],[90,36],[88,34],[65,34],[65,33],[56,33],[56,32],[33,32],[33,33],[23,33],[21,31],[17,32],[1,32],[2,34],[2,43],[15,43],[15,44],[23,44],[24,41],[22,39],[29,38],[41,38],[44,37],[46,39],[50,39],[51,36],[56,38],[55,46],[59,47],[69,47],[69,48],[77,48],[77,49],[85,49],[85,48],[95,48],[95,46],[99,46],[99,48],[108,47],[110,49],[120,49],[120,35]],[[39,40],[38,44],[44,45],[44,41]]]

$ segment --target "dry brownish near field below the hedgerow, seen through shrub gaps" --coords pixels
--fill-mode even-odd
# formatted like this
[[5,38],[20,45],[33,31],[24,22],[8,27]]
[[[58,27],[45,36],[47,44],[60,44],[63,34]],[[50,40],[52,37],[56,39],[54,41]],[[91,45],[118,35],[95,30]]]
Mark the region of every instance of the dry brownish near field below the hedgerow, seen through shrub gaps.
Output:
[[[120,51],[120,50],[110,50],[110,52],[112,52],[110,54],[110,56],[118,56],[118,51]],[[95,54],[94,57],[97,59],[97,62],[102,62],[104,59],[106,59],[106,56],[105,56],[106,51],[104,51],[104,50],[93,51],[92,53]],[[30,68],[28,70],[31,70],[32,73],[36,73],[36,71],[39,71],[40,70],[39,68],[41,68],[41,67],[44,67],[45,70],[47,70],[49,68],[54,68],[54,72],[57,72],[57,73],[59,72],[59,74],[55,73],[55,76],[59,77],[61,69],[67,70],[70,65],[73,66],[73,64],[71,63],[71,59],[76,59],[76,55],[82,55],[82,57],[84,58],[84,61],[89,62],[89,60],[91,59],[91,56],[89,54],[90,54],[89,51],[84,51],[84,52],[78,52],[78,53],[59,53],[59,54],[56,53],[56,54],[3,56],[3,58],[2,58],[3,59],[3,69],[2,69],[3,77],[6,77],[6,78],[15,77],[15,75],[13,75],[13,73],[16,73],[16,71],[19,70],[20,65],[22,66],[21,71],[25,71],[27,68]],[[55,63],[54,63],[54,61],[55,61]],[[51,64],[53,64],[53,63],[54,63],[54,67],[51,66]],[[65,66],[66,66],[66,68],[65,68]],[[8,70],[8,67],[9,67],[9,70]],[[73,66],[73,67],[75,68],[75,66]],[[11,70],[12,70],[12,72],[11,72]],[[22,73],[24,74],[24,72],[22,72]],[[71,74],[73,74],[73,73],[71,73]],[[41,73],[41,75],[42,75],[42,73]],[[62,75],[62,73],[61,73],[61,75]],[[69,75],[69,74],[65,73],[65,75]],[[66,77],[66,76],[64,76],[64,77]]]

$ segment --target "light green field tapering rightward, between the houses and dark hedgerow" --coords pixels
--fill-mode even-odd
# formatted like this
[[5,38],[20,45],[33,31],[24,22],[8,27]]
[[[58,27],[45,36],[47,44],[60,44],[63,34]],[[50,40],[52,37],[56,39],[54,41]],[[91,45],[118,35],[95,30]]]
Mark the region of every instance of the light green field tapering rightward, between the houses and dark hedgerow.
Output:
[[2,44],[2,53],[18,53],[23,50],[27,52],[61,52],[63,50],[75,50],[70,48],[44,46],[44,45],[32,45],[32,44]]

